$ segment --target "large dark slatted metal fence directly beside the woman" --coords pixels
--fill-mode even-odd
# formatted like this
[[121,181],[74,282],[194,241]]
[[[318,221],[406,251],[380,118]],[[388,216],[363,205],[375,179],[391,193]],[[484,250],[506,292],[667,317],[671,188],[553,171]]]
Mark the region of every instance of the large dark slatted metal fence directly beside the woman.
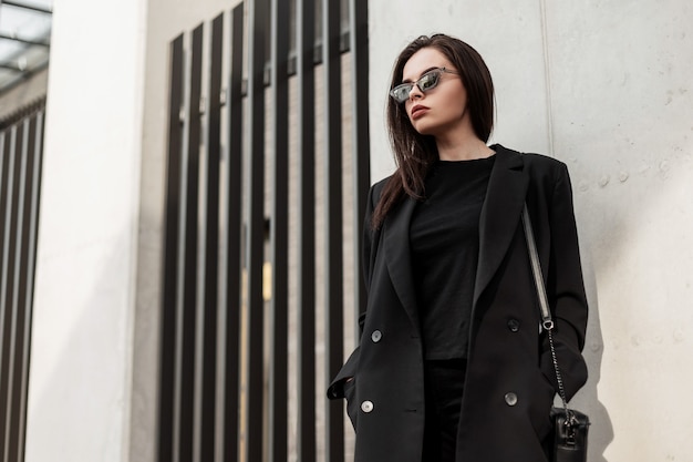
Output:
[[344,460],[324,388],[364,298],[368,79],[366,0],[244,2],[170,43],[161,462]]

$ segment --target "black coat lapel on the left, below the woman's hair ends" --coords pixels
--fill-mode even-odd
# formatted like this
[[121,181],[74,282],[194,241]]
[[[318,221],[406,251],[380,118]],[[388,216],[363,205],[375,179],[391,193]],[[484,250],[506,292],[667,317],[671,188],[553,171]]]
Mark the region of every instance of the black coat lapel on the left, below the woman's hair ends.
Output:
[[392,285],[414,326],[418,327],[418,308],[412,274],[410,223],[416,201],[407,197],[393,211],[383,226],[385,261]]

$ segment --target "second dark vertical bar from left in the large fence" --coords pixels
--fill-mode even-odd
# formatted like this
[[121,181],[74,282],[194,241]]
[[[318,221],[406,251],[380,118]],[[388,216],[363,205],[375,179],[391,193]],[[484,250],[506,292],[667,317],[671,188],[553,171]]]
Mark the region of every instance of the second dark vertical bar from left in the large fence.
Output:
[[190,462],[195,435],[195,345],[197,329],[197,240],[199,201],[200,92],[203,70],[201,23],[193,30],[188,104],[187,187],[185,216],[185,270],[183,283],[183,337],[180,358],[179,461]]

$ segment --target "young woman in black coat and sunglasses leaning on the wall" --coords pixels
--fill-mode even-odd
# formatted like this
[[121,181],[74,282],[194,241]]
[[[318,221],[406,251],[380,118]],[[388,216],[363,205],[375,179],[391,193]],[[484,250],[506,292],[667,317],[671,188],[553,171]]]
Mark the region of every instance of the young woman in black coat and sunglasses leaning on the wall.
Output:
[[356,462],[542,462],[558,384],[521,224],[527,204],[568,399],[587,380],[587,299],[566,165],[487,146],[492,78],[437,34],[397,58],[397,168],[370,192],[359,348],[330,384]]

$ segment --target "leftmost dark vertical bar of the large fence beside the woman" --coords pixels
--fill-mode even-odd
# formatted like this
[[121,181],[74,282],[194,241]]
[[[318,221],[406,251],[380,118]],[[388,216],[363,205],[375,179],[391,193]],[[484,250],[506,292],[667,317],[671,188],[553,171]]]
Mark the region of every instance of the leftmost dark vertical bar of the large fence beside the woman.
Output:
[[168,172],[164,237],[164,277],[159,360],[158,462],[174,460],[174,409],[176,377],[176,307],[180,220],[183,34],[170,43],[170,88],[168,94]]

